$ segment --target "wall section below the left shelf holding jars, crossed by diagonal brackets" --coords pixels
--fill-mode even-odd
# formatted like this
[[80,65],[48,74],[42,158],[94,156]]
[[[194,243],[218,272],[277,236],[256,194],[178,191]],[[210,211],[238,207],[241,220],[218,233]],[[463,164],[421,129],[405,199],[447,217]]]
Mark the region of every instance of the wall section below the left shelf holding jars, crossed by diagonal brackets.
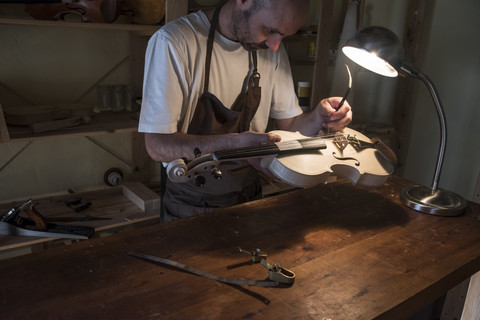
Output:
[[[95,139],[122,158],[131,159],[131,134],[102,135]],[[3,165],[27,144],[1,144],[0,163]],[[108,187],[103,176],[112,167],[120,169],[128,179],[129,165],[84,137],[37,140],[0,172],[0,201],[65,194],[69,189],[78,192]]]

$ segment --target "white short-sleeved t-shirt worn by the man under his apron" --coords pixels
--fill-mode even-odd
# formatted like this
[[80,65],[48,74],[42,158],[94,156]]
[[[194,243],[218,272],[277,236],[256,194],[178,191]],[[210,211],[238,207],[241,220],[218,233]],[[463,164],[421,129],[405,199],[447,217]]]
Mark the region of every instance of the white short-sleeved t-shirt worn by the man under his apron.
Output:
[[[204,90],[209,28],[209,20],[199,11],[166,24],[151,37],[145,55],[139,132],[187,132]],[[262,98],[250,130],[264,132],[269,117],[287,119],[302,110],[283,45],[277,52],[258,50],[257,55]],[[244,82],[253,69],[250,60],[238,42],[215,33],[209,92],[225,107],[230,108],[245,90]]]

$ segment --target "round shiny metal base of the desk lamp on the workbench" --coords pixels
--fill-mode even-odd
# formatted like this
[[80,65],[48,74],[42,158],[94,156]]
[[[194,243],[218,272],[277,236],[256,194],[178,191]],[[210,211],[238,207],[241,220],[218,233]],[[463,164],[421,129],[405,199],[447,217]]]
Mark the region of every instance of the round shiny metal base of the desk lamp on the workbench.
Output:
[[464,213],[467,201],[451,191],[411,186],[402,190],[402,203],[414,210],[437,216],[458,216]]

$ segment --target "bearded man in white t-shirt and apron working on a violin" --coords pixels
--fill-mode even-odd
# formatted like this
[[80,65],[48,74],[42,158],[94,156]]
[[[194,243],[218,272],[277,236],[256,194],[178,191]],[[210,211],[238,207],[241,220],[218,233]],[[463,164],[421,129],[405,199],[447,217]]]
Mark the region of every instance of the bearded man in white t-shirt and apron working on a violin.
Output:
[[[165,25],[149,41],[139,131],[155,161],[191,160],[214,151],[267,142],[278,129],[312,136],[342,130],[352,119],[340,98],[302,113],[284,37],[302,26],[308,0],[228,0]],[[267,50],[265,50],[267,49]],[[165,220],[257,199],[257,171],[247,161],[221,163],[223,178],[203,186],[167,182]]]

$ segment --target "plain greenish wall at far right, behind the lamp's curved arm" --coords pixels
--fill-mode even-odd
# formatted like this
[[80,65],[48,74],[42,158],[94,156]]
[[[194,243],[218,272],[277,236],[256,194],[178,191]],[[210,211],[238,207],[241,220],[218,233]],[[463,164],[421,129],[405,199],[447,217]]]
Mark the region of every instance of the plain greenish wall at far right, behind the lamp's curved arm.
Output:
[[[434,4],[418,66],[433,80],[447,118],[439,186],[471,200],[480,173],[480,2],[437,0]],[[440,129],[428,89],[418,82],[404,177],[431,185]]]

